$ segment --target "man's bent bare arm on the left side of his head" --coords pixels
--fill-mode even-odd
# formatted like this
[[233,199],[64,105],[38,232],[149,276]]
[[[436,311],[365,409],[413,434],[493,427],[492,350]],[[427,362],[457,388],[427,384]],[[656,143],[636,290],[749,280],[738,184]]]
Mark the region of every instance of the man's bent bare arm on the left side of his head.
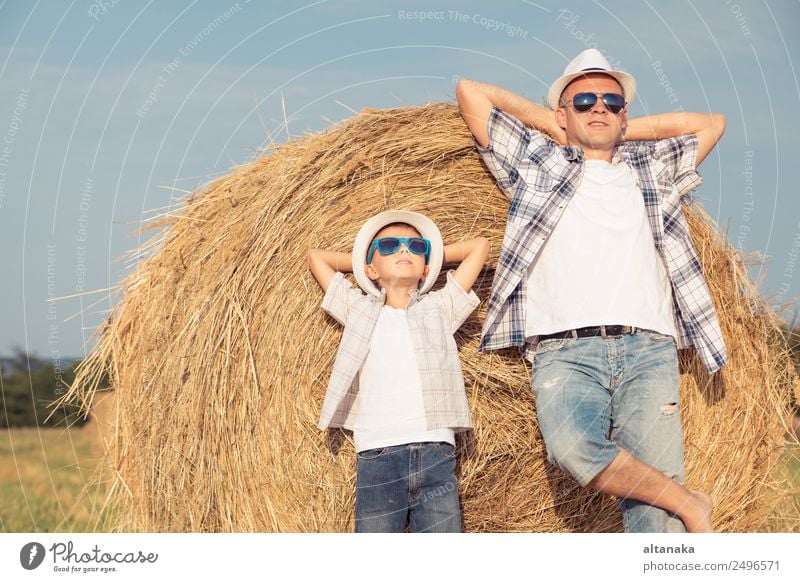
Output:
[[566,134],[556,123],[552,111],[508,89],[462,79],[456,86],[456,99],[461,116],[482,147],[489,145],[487,125],[493,106],[513,115],[526,126],[549,134],[555,141],[566,143]]

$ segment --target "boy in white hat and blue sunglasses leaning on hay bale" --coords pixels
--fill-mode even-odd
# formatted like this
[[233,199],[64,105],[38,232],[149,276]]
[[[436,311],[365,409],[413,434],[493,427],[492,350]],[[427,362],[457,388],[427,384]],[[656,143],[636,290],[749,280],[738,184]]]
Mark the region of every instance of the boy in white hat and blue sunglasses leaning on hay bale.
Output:
[[[345,327],[318,426],[353,431],[356,532],[461,531],[454,433],[472,423],[453,333],[480,302],[488,254],[485,238],[444,247],[406,211],[367,221],[352,255],[308,252],[322,308]],[[427,293],[443,261],[461,264]]]

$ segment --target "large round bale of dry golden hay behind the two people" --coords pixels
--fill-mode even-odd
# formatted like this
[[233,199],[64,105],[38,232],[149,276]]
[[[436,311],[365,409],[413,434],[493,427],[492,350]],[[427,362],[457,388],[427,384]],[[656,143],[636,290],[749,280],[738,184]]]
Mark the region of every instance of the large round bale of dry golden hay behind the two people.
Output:
[[[349,251],[368,217],[400,208],[445,241],[488,237],[497,262],[507,201],[453,105],[366,110],[268,153],[156,221],[69,395],[90,405],[104,372],[117,391],[118,529],[352,531],[350,437],[315,428],[341,329],[306,250]],[[717,528],[750,531],[776,490],[792,372],[741,258],[702,211],[688,218],[731,355],[713,379],[681,355],[689,485],[713,495]],[[525,362],[476,351],[492,275],[456,336],[475,423],[459,441],[465,528],[619,531],[612,499],[544,461]]]

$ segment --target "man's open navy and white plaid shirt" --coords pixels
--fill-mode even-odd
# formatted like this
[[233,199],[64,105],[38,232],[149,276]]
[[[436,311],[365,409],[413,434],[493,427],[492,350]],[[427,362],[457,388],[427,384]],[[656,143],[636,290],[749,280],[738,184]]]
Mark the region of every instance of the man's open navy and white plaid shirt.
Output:
[[[528,269],[580,184],[583,151],[560,146],[497,107],[489,116],[489,147],[478,145],[478,151],[511,199],[480,349],[518,346],[532,359],[535,340],[525,338]],[[625,143],[615,150],[614,161],[627,162],[637,176],[656,249],[672,284],[678,347],[697,349],[713,373],[728,355],[681,207],[681,196],[702,183],[695,171],[696,153],[697,136],[684,135]]]

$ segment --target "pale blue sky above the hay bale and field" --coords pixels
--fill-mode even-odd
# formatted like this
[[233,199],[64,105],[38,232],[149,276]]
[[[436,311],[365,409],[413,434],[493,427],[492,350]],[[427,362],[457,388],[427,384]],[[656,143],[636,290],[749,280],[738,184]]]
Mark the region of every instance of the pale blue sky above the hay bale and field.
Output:
[[799,28],[797,2],[6,0],[0,353],[82,356],[111,305],[48,299],[119,283],[148,211],[270,140],[452,101],[460,77],[541,101],[589,46],[637,77],[632,115],[727,116],[698,199],[796,300]]

